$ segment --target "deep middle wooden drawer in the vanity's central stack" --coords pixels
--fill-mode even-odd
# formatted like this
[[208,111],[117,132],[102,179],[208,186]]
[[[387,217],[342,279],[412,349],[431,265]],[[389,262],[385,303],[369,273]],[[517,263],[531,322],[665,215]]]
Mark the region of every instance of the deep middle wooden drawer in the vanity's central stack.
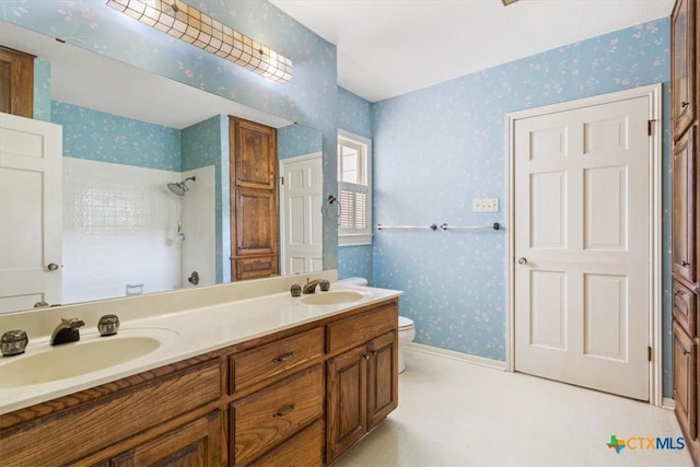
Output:
[[318,420],[324,410],[323,366],[316,365],[270,389],[233,404],[232,458],[246,465],[300,429]]

